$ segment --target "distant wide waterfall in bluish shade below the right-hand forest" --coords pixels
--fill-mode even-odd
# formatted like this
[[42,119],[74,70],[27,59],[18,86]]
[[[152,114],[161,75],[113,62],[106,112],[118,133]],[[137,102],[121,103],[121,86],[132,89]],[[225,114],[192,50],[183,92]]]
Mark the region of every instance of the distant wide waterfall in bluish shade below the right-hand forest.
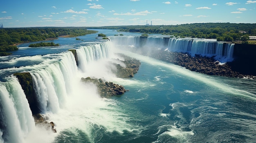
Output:
[[144,49],[147,50],[150,48],[167,48],[171,52],[190,53],[191,56],[201,55],[206,57],[215,57],[216,60],[222,63],[233,61],[234,44],[230,43],[206,39],[169,38],[168,45],[166,47],[163,37],[147,37],[146,42],[136,43],[141,42],[138,38],[141,37],[110,37],[111,41],[119,46],[132,45],[130,47],[144,47]]

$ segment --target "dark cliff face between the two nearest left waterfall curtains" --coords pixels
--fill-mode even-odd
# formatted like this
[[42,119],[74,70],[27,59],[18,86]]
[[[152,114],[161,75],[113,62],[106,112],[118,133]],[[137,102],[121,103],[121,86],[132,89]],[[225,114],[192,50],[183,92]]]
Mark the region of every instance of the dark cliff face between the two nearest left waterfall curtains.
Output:
[[40,113],[40,110],[38,108],[38,101],[36,98],[36,92],[33,88],[33,81],[30,73],[14,73],[13,75],[18,78],[20,85],[24,90],[32,114]]

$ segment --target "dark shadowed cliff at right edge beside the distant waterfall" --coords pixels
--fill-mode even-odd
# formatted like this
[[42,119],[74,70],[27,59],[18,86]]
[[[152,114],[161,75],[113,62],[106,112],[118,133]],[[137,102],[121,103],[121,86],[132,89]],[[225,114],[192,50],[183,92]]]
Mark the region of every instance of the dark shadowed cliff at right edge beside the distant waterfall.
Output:
[[235,44],[234,61],[228,63],[232,70],[256,76],[256,45]]

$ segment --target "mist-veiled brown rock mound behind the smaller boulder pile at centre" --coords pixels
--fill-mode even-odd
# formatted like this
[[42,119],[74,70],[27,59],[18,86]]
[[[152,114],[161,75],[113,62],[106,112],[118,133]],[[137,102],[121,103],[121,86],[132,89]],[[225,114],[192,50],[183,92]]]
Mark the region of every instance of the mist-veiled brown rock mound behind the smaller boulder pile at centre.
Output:
[[[117,77],[119,78],[130,78],[133,77],[135,73],[137,73],[137,71],[139,70],[139,66],[140,66],[140,62],[139,60],[132,58],[132,57],[128,57],[126,55],[123,54],[119,54],[121,57],[124,57],[124,61],[123,62],[126,67],[122,67],[120,64],[114,64],[117,67]],[[119,59],[117,59],[119,60]]]

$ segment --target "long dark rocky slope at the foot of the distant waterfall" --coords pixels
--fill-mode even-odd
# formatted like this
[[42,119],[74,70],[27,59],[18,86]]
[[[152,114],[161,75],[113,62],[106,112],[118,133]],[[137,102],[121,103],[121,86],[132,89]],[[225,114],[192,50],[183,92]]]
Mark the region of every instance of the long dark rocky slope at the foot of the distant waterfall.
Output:
[[236,71],[233,71],[229,64],[220,64],[214,59],[214,57],[202,57],[200,55],[195,55],[191,57],[188,53],[173,53],[163,50],[153,51],[151,57],[159,59],[165,62],[183,66],[186,69],[204,73],[207,75],[220,75],[226,77],[239,77],[239,78],[249,78],[256,79],[255,75],[243,75]]

